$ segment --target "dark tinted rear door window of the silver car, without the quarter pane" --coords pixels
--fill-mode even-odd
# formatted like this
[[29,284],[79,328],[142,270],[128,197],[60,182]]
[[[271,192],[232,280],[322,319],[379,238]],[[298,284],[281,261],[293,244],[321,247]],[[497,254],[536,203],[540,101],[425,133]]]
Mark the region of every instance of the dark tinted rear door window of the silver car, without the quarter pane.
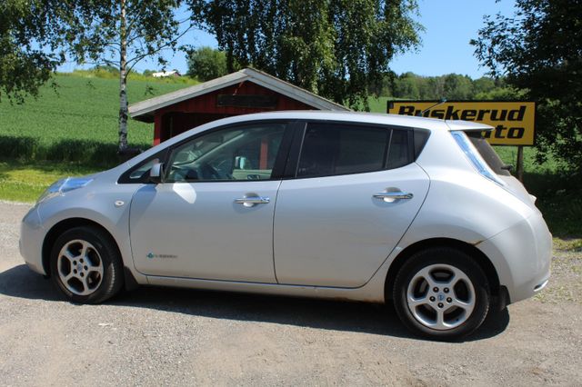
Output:
[[308,124],[297,177],[360,174],[386,163],[389,129],[348,124]]

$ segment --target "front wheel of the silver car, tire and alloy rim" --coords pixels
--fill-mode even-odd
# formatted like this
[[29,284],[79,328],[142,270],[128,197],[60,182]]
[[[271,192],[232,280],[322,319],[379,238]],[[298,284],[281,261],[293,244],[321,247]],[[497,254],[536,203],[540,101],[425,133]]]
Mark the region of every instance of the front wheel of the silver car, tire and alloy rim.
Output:
[[74,303],[103,303],[124,283],[121,256],[112,238],[95,227],[75,227],[51,250],[51,278]]

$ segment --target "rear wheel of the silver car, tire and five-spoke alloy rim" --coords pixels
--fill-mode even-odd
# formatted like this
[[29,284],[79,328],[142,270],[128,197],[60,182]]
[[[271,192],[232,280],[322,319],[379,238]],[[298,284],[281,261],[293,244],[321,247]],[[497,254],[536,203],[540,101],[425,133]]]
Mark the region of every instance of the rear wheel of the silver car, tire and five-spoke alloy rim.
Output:
[[410,331],[447,340],[477,330],[487,317],[491,293],[487,276],[469,254],[441,247],[415,253],[404,263],[393,300]]

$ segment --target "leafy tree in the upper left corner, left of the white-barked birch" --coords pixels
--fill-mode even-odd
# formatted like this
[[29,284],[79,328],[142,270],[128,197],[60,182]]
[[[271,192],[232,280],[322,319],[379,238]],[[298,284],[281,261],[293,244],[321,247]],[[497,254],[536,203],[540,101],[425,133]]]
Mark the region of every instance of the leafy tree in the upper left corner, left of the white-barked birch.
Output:
[[[0,2],[0,100],[18,103],[38,94],[65,61],[59,50],[60,25],[73,17],[70,8],[50,0]],[[74,29],[71,29],[75,33]]]

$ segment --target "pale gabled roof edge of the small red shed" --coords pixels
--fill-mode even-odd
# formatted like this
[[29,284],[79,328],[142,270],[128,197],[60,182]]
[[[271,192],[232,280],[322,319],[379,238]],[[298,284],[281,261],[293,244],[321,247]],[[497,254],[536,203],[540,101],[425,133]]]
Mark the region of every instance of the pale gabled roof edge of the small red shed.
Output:
[[195,98],[199,95],[211,93],[233,84],[240,84],[245,81],[259,84],[276,93],[286,95],[289,98],[312,106],[318,110],[350,110],[342,104],[336,104],[335,102],[329,101],[317,94],[310,93],[301,87],[282,81],[273,75],[252,68],[244,68],[236,73],[221,76],[220,78],[210,80],[204,84],[196,84],[194,86],[177,90],[176,92],[159,95],[147,99],[146,101],[131,104],[129,106],[129,114],[132,118],[139,121],[151,121],[154,113],[158,109]]

